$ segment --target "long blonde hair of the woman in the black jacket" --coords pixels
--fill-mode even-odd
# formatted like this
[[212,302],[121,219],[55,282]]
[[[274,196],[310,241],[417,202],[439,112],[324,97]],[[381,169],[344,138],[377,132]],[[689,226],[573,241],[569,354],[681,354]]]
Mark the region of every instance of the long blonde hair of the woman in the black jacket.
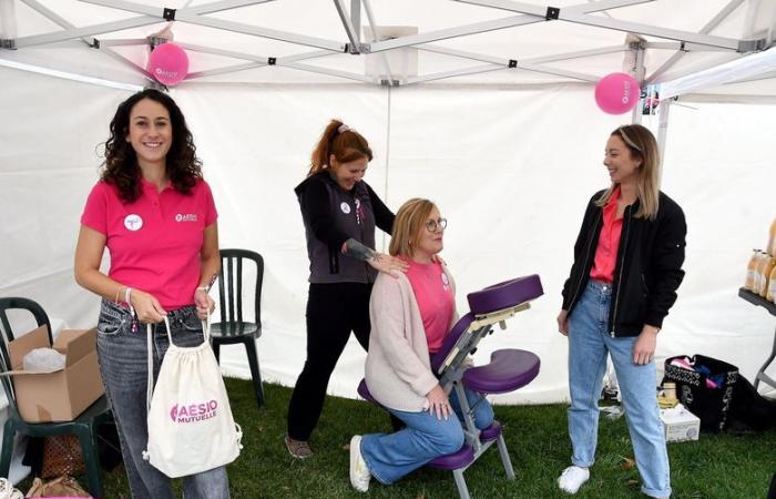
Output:
[[[660,200],[660,152],[657,141],[646,126],[639,124],[622,125],[610,136],[619,136],[627,146],[631,157],[641,160],[639,177],[636,179],[636,195],[639,197],[637,218],[655,220]],[[595,202],[604,206],[612,197],[616,187],[612,184]]]

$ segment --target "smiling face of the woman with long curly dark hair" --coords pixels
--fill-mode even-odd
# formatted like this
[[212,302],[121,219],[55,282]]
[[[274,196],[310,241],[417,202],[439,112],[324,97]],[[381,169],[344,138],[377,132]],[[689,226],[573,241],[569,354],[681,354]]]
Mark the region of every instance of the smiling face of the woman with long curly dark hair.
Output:
[[139,101],[130,112],[126,142],[132,144],[141,167],[164,166],[173,143],[173,128],[167,109],[151,99]]

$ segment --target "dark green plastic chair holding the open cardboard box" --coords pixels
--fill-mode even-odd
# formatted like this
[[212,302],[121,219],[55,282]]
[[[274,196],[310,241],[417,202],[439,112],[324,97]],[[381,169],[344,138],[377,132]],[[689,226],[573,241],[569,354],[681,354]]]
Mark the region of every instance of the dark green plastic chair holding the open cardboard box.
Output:
[[[0,367],[3,370],[9,370],[9,366],[11,366],[11,359],[8,354],[8,343],[14,338],[7,315],[10,309],[24,309],[30,312],[38,322],[38,326],[47,326],[49,342],[51,342],[51,323],[43,307],[28,298],[0,298],[0,322],[2,323],[4,339],[0,342],[0,350],[2,350]],[[102,424],[113,421],[113,415],[108,398],[103,395],[72,421],[27,422],[19,415],[17,399],[13,393],[13,384],[8,376],[2,377],[2,387],[6,390],[9,407],[8,420],[6,420],[2,434],[2,450],[0,450],[0,476],[8,477],[8,471],[11,467],[11,455],[13,454],[13,441],[17,434],[27,435],[29,437],[75,435],[81,442],[81,452],[86,469],[89,492],[94,498],[102,498],[102,477],[96,447],[96,429]]]

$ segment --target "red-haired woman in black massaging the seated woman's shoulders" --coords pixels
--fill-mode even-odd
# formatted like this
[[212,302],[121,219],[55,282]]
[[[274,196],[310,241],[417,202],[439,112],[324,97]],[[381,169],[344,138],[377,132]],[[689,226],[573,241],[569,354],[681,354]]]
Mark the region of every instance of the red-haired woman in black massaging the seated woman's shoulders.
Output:
[[372,249],[375,226],[391,233],[394,213],[363,181],[371,150],[364,136],[331,120],[313,151],[307,179],[296,189],[310,261],[307,359],[288,404],[288,452],[313,455],[308,439],[320,417],[326,387],[350,332],[369,347],[369,295],[379,272],[407,264]]

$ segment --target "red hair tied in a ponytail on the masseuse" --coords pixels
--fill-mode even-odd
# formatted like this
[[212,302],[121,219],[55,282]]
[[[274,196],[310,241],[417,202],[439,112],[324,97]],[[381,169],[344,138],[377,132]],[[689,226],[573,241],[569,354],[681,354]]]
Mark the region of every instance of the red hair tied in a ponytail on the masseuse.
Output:
[[367,162],[371,161],[371,149],[364,135],[339,120],[331,120],[315,144],[307,176],[328,170],[331,166],[329,165],[331,154],[339,163],[350,163],[363,157],[366,157]]

